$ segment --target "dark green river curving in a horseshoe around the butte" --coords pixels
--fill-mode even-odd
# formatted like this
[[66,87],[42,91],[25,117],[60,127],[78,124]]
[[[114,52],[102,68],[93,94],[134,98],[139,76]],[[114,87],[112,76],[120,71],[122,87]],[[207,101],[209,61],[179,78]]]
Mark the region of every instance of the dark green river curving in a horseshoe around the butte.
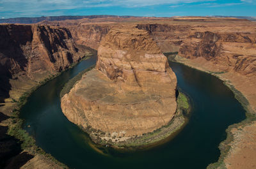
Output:
[[187,126],[170,142],[147,151],[100,154],[60,108],[63,85],[95,61],[95,57],[82,61],[42,85],[22,108],[24,128],[35,137],[36,144],[70,168],[205,168],[218,160],[225,129],[245,118],[241,104],[218,78],[170,62],[179,89],[191,99]]

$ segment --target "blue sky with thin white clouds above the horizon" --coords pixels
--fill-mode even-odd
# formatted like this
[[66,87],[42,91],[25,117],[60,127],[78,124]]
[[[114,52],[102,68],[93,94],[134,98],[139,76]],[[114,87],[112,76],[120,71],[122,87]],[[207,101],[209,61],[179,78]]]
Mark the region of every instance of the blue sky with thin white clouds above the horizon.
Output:
[[0,0],[0,18],[58,15],[256,16],[256,0]]

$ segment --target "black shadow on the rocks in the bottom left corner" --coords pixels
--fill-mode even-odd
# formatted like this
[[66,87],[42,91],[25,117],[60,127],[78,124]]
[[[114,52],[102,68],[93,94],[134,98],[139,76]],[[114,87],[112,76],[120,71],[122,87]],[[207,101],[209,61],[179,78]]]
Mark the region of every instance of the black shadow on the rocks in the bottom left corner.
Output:
[[[0,112],[0,122],[8,118],[7,115]],[[6,135],[7,131],[8,127],[0,126],[0,168],[20,168],[33,156],[27,152],[22,152],[19,140]]]

